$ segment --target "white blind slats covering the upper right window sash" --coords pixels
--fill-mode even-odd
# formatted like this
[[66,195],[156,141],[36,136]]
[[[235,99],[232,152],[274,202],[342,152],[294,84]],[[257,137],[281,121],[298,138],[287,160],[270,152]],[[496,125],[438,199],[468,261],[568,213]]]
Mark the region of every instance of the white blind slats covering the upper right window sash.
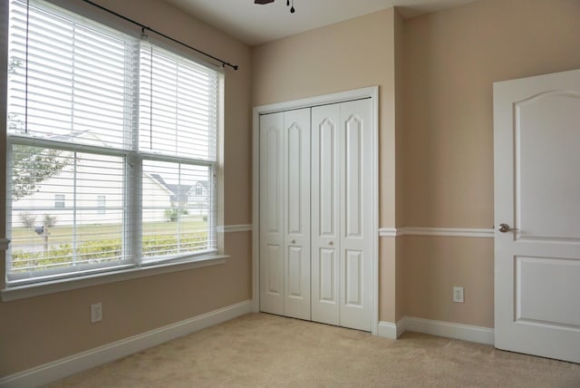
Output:
[[216,160],[215,72],[147,43],[140,63],[140,150]]

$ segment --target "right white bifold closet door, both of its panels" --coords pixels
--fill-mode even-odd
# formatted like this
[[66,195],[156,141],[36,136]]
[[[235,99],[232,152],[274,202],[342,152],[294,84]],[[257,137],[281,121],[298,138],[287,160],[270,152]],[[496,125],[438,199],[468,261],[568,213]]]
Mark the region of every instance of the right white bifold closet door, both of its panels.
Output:
[[312,109],[312,320],[372,329],[372,104]]

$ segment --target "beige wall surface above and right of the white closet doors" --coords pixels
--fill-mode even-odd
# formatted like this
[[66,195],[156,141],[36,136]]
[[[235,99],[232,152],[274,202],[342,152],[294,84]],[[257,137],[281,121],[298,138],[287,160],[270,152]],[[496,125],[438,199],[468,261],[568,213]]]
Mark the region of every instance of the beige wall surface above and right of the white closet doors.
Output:
[[[252,105],[379,85],[380,225],[394,227],[394,10],[296,34],[253,49]],[[381,319],[394,320],[393,241],[380,245]]]

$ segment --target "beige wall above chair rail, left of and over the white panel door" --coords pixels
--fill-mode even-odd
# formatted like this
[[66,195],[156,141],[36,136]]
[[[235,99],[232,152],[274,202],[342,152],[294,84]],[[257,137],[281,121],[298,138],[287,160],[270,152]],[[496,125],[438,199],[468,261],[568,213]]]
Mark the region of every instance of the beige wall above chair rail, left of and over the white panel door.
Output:
[[493,225],[492,83],[580,67],[580,2],[485,0],[405,24],[401,224]]

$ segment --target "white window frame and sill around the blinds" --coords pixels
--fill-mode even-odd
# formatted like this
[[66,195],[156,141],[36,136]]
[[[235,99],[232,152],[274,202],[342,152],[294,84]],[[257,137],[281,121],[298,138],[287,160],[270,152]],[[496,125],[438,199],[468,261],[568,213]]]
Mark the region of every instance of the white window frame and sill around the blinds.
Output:
[[[50,2],[49,5],[51,5]],[[66,9],[67,11],[73,12],[74,14],[80,15],[82,17],[87,17],[90,21],[107,25],[113,29],[121,31],[122,33],[127,34],[128,30],[130,30],[135,37],[139,36],[137,31],[133,31],[127,25],[123,25],[123,28],[119,28],[120,25],[118,21],[111,20],[111,18],[93,13],[92,11],[87,11],[86,7],[68,7],[59,4],[59,2],[55,2],[58,6]],[[82,12],[80,12],[82,11]],[[29,296],[39,296],[45,294],[51,294],[53,292],[60,292],[67,289],[76,289],[82,288],[84,286],[93,286],[96,284],[106,284],[115,281],[122,281],[130,278],[139,278],[143,276],[153,276],[159,275],[163,273],[169,273],[174,271],[180,270],[187,270],[195,267],[207,267],[210,265],[219,265],[224,264],[226,262],[227,255],[222,253],[223,247],[220,244],[218,238],[218,219],[221,219],[220,214],[223,211],[223,206],[218,199],[222,196],[220,195],[220,191],[222,189],[221,180],[219,177],[221,176],[221,166],[220,163],[222,160],[220,155],[223,150],[223,116],[224,116],[224,99],[225,99],[225,88],[224,88],[224,71],[223,69],[219,68],[216,65],[211,63],[206,63],[205,61],[199,59],[195,54],[185,52],[182,48],[176,47],[173,44],[168,44],[166,42],[160,42],[158,39],[151,39],[150,44],[154,44],[159,46],[160,48],[167,50],[175,55],[179,55],[185,59],[193,61],[195,63],[201,64],[210,68],[212,71],[216,72],[218,75],[218,85],[217,85],[217,110],[218,110],[218,117],[216,122],[216,133],[215,133],[215,141],[216,141],[216,158],[215,160],[188,160],[187,163],[194,161],[196,164],[199,162],[202,165],[209,166],[211,169],[211,176],[213,180],[210,184],[213,184],[215,189],[211,190],[213,194],[213,199],[211,202],[213,203],[213,209],[210,211],[211,219],[209,222],[212,224],[212,228],[208,228],[208,234],[214,234],[215,236],[208,236],[208,240],[215,240],[217,241],[217,248],[210,252],[190,252],[186,254],[181,254],[178,257],[167,257],[160,260],[143,260],[143,257],[133,257],[131,267],[121,267],[119,269],[115,269],[114,267],[111,270],[108,269],[95,269],[94,272],[91,270],[83,271],[82,275],[75,276],[72,272],[63,272],[62,276],[52,276],[49,280],[43,281],[40,277],[34,277],[30,281],[24,281],[22,283],[14,283],[14,281],[8,281],[8,266],[9,266],[9,252],[6,252],[5,255],[5,279],[4,279],[4,289],[0,290],[0,294],[3,300],[14,300],[19,299],[22,297],[29,297]],[[7,102],[7,101],[6,101]],[[115,150],[107,147],[98,147],[94,145],[86,145],[86,144],[71,144],[71,143],[62,143],[60,144],[58,141],[43,141],[39,140],[38,138],[31,138],[27,136],[19,136],[17,134],[10,134],[7,131],[5,133],[6,139],[6,202],[5,202],[5,215],[6,215],[6,231],[10,230],[11,227],[11,219],[12,219],[12,200],[9,193],[9,183],[11,179],[11,153],[12,153],[12,146],[14,144],[22,144],[22,145],[34,145],[35,147],[42,147],[43,144],[50,146],[51,148],[58,147],[59,150],[82,150],[87,151],[94,154],[101,154],[101,155],[111,155],[111,156],[119,156],[124,160],[127,160],[127,164],[131,164],[134,162],[138,162],[139,168],[136,169],[137,171],[133,171],[131,175],[131,182],[125,184],[127,189],[131,187],[135,187],[132,184],[138,183],[139,187],[141,183],[141,173],[140,167],[142,166],[143,160],[165,160],[165,161],[178,161],[183,163],[184,160],[179,157],[173,156],[165,156],[159,155],[156,153],[148,153],[147,151],[134,151],[134,150]],[[132,129],[131,131],[139,131],[139,129],[135,130]],[[193,164],[193,163],[191,163]],[[131,193],[126,194],[126,198],[131,200],[133,205],[131,206],[131,220],[134,221],[136,218],[140,220],[141,209],[138,201],[133,200],[135,198],[140,197],[140,192],[136,192],[137,190],[131,190]],[[98,207],[98,206],[97,206]],[[135,208],[137,207],[137,208]],[[131,249],[131,252],[135,251],[136,244],[140,243],[141,237],[141,223],[138,222],[134,225],[138,225],[138,228],[135,228],[132,233],[131,237],[127,238],[127,242]],[[137,230],[139,229],[139,230]],[[123,227],[123,234],[128,234],[128,230]],[[10,238],[10,236],[8,236]],[[139,249],[139,247],[137,247]],[[10,250],[10,247],[8,247]]]

